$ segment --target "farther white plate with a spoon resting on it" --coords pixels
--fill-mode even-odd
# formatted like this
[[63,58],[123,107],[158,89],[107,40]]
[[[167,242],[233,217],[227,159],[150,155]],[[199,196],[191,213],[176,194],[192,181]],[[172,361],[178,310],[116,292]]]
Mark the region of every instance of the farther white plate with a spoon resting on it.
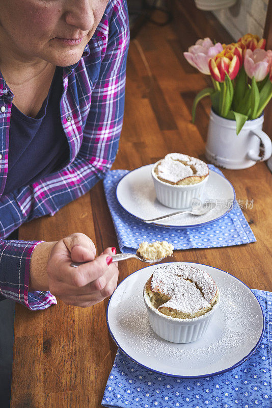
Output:
[[[157,200],[151,177],[152,166],[149,164],[130,171],[120,180],[116,189],[117,200],[123,209],[142,221],[178,211],[165,207]],[[205,215],[177,215],[157,221],[156,224],[179,228],[204,225],[227,214],[234,199],[235,191],[230,182],[223,175],[210,170],[202,201],[211,200],[216,203],[216,207]]]

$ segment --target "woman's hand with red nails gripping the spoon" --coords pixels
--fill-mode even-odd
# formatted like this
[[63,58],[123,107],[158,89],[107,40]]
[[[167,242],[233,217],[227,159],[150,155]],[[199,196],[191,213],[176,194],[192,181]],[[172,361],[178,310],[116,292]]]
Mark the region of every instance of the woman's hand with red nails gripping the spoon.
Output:
[[[72,234],[58,242],[42,242],[32,253],[29,291],[49,290],[67,304],[89,307],[117,286],[115,248],[107,248],[95,258],[93,241],[84,234]],[[73,268],[71,262],[87,264]]]

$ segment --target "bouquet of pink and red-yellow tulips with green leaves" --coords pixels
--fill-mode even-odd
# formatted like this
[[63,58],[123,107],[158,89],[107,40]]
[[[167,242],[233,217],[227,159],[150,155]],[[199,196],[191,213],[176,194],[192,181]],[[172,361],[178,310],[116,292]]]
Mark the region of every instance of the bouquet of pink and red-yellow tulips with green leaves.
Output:
[[236,120],[237,135],[248,119],[262,114],[272,97],[272,51],[264,48],[265,39],[247,34],[228,45],[204,38],[183,53],[191,65],[211,75],[213,85],[197,94],[193,122],[197,104],[207,95],[217,115]]

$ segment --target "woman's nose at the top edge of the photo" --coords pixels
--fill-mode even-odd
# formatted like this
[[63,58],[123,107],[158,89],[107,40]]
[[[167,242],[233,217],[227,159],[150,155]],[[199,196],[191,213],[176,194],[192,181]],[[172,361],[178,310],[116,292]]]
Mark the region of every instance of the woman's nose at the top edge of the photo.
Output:
[[94,25],[92,0],[71,0],[65,12],[65,21],[81,31],[90,31]]

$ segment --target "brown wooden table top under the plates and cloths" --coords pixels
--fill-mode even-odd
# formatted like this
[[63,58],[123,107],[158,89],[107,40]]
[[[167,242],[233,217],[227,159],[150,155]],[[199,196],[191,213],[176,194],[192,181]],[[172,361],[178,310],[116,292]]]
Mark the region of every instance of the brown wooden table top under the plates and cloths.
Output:
[[[186,63],[182,51],[207,31],[210,35],[211,29],[212,38],[228,41],[229,36],[217,29],[210,14],[202,14],[206,20],[201,27],[186,16],[180,21],[182,42],[177,37],[180,32],[171,26],[152,24],[131,42],[125,119],[115,169],[132,170],[174,151],[204,158],[209,100],[199,106],[196,125],[191,123],[191,108],[195,94],[206,86],[206,78]],[[175,251],[174,260],[211,265],[237,276],[250,288],[272,291],[272,176],[264,163],[223,172],[238,199],[254,200],[253,208],[243,212],[257,242]],[[25,224],[19,234],[25,240],[53,241],[75,232],[90,236],[99,253],[108,246],[118,248],[101,182],[55,216]],[[134,260],[120,263],[119,281],[142,266]],[[16,305],[12,408],[100,406],[116,353],[107,331],[106,305],[107,300],[80,309],[59,301],[40,312]]]

